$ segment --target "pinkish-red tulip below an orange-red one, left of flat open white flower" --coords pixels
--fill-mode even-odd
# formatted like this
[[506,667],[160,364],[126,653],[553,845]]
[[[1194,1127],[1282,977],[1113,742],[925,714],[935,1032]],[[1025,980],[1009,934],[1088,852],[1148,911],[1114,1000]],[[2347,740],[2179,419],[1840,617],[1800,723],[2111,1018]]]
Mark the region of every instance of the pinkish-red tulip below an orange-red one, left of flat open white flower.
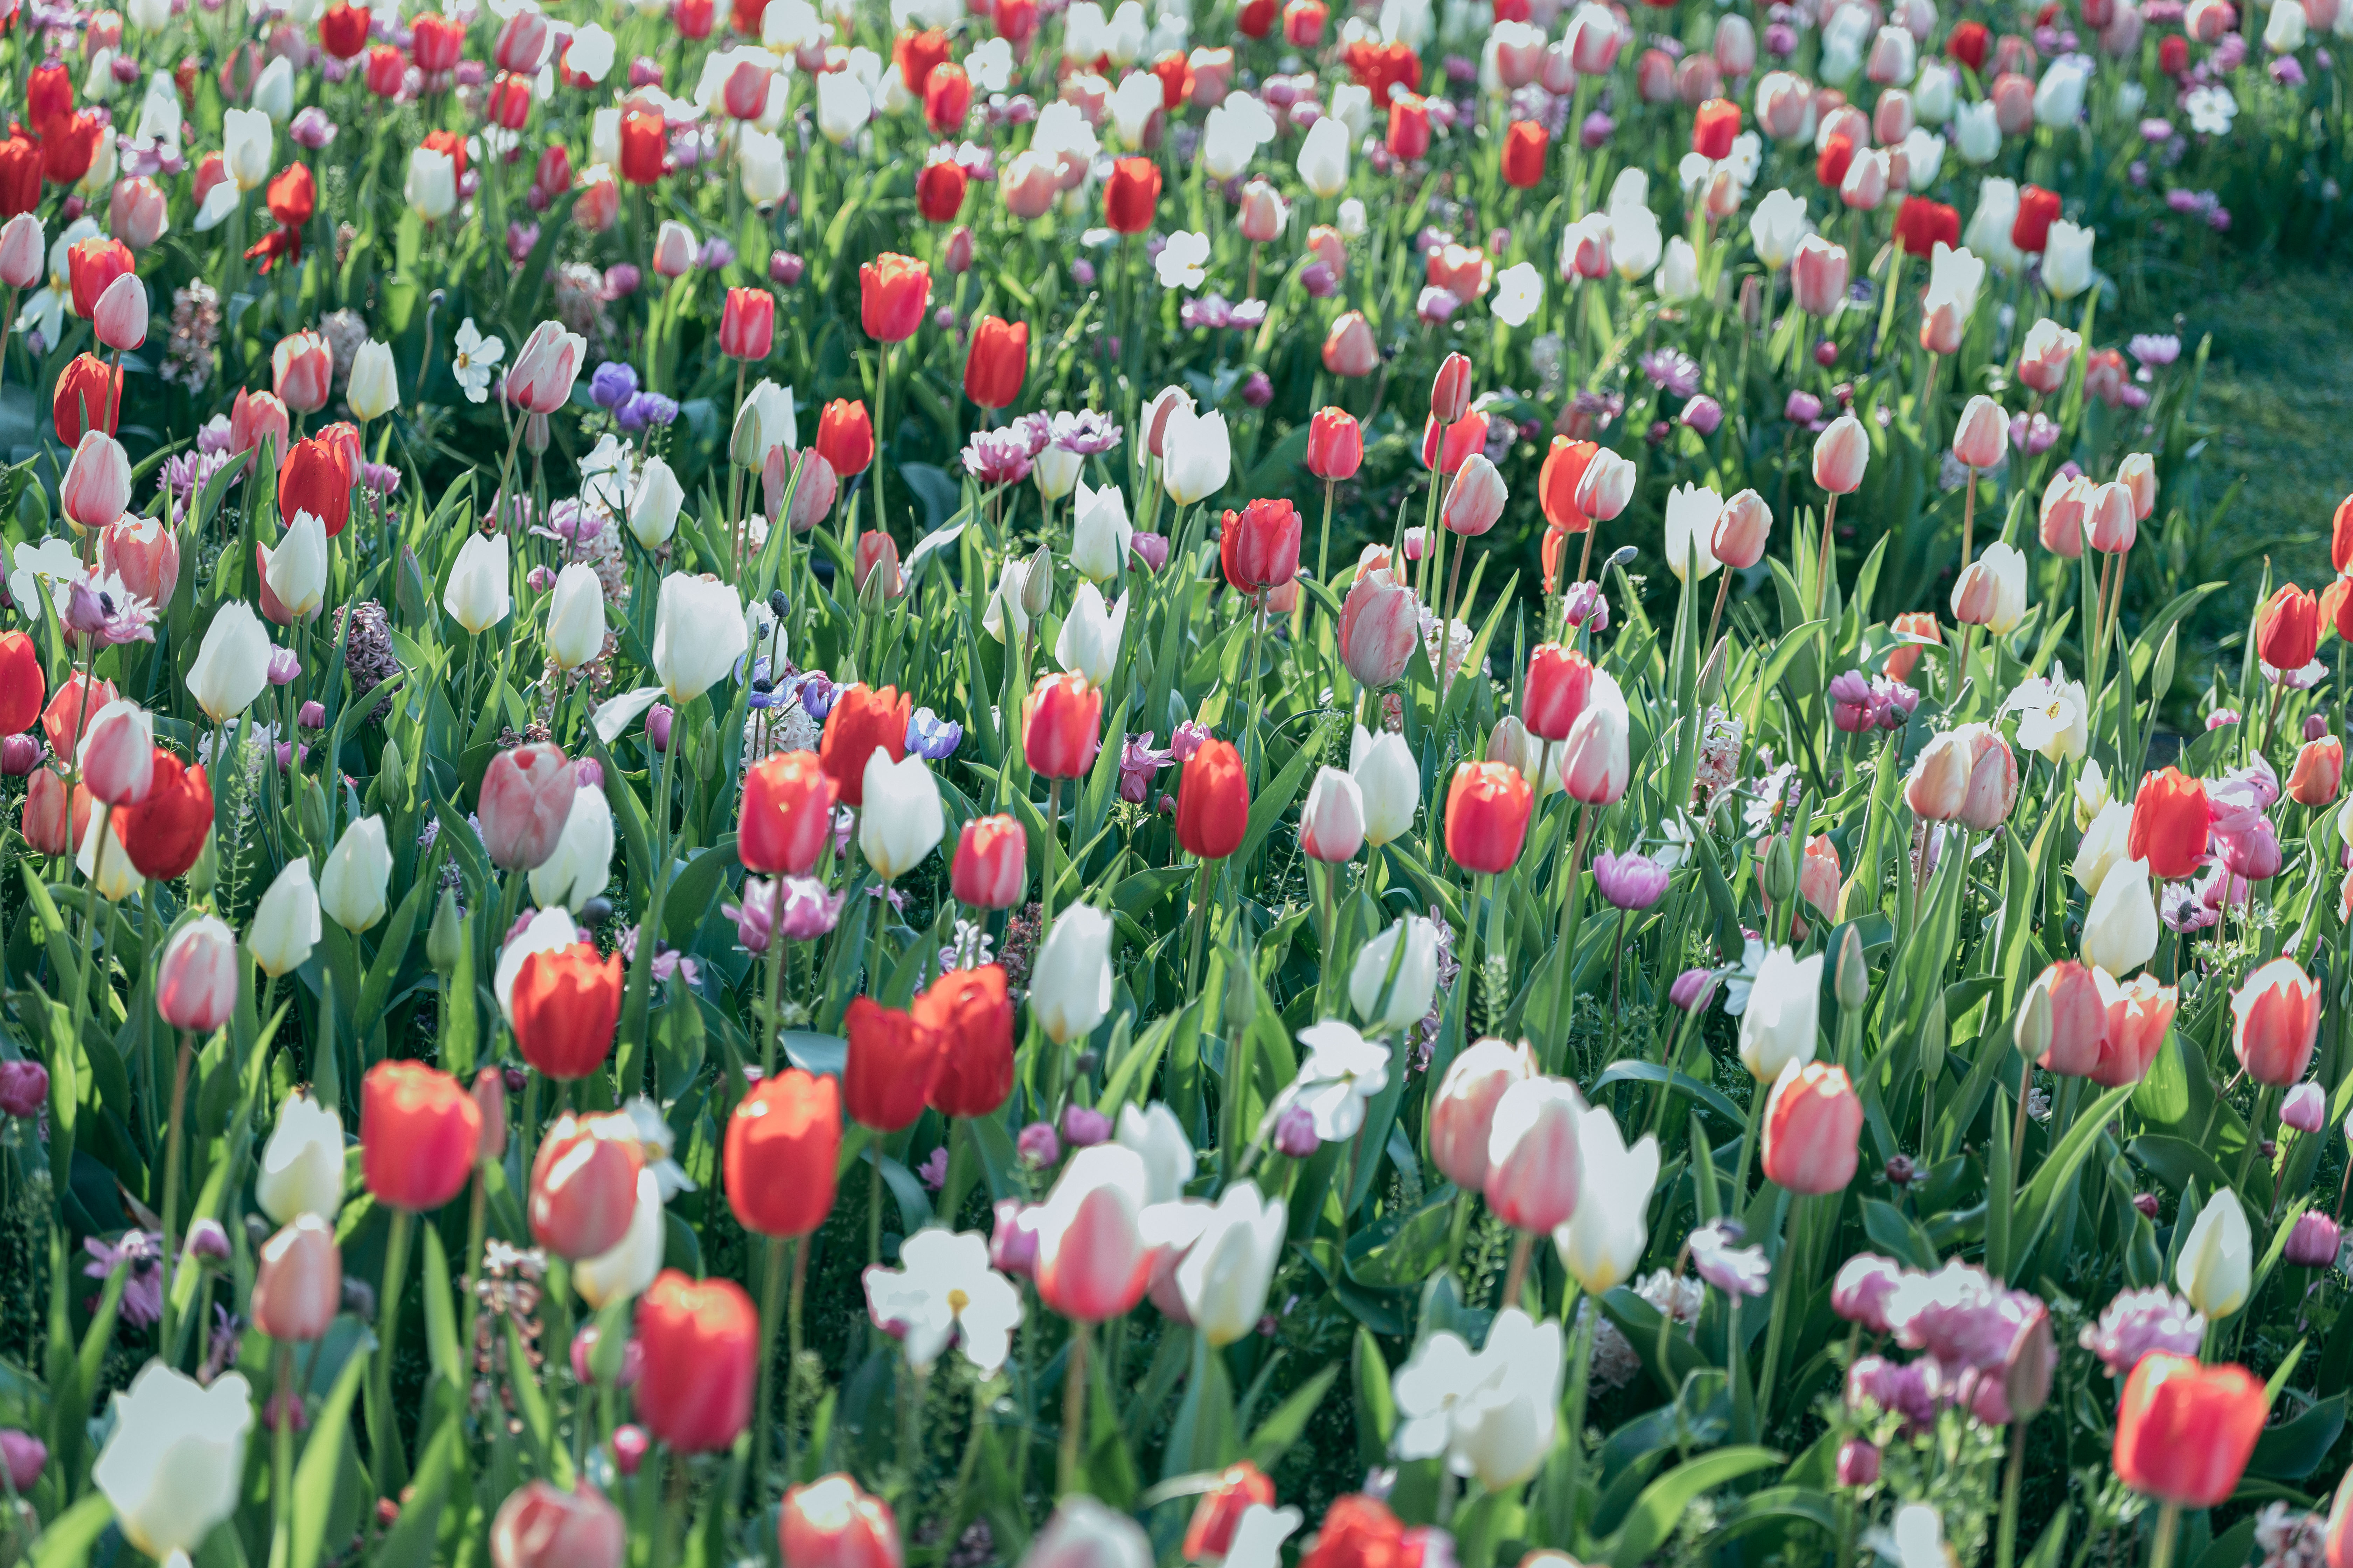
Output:
[[[828,1182],[828,1204],[831,1197]],[[664,1269],[638,1300],[638,1345],[645,1347],[638,1375],[645,1429],[678,1453],[732,1448],[751,1425],[760,1356],[760,1314],[744,1286]]]

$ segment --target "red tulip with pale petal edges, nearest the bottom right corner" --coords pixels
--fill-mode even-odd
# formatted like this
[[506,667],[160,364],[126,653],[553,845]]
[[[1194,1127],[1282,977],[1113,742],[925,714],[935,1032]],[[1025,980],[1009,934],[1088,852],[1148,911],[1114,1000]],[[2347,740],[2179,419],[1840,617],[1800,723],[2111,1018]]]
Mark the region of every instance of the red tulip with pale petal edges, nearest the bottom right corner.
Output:
[[[2151,1352],[2125,1378],[2115,1408],[2115,1476],[2169,1507],[2209,1509],[2238,1490],[2268,1403],[2264,1380],[2242,1366]],[[2167,1516],[2160,1530],[2172,1528]]]

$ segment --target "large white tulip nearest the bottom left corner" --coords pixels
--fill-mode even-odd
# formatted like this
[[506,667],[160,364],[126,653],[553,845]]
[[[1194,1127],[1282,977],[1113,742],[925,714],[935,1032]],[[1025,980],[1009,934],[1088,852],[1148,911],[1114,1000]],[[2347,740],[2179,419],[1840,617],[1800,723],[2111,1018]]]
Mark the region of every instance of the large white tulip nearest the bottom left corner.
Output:
[[148,1361],[115,1394],[113,1432],[89,1483],[113,1505],[122,1537],[158,1563],[188,1561],[238,1509],[254,1394],[242,1373],[212,1385]]

